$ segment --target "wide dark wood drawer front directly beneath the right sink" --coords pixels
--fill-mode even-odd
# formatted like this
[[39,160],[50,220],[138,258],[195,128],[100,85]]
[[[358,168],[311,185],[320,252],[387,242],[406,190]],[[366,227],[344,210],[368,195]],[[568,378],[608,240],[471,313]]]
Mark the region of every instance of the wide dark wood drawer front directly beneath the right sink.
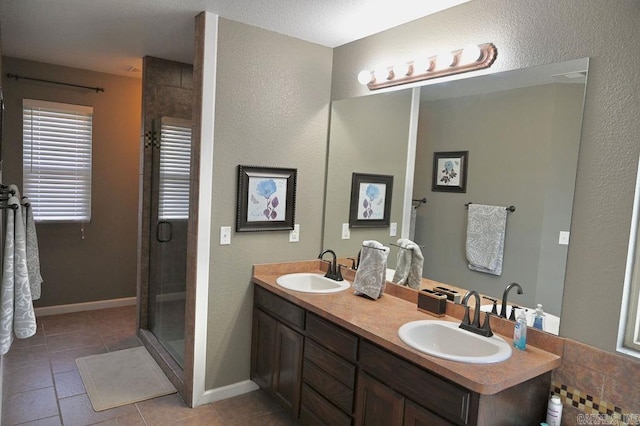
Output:
[[473,422],[470,419],[469,407],[477,395],[468,389],[431,374],[366,341],[360,343],[360,366],[407,398],[456,424]]

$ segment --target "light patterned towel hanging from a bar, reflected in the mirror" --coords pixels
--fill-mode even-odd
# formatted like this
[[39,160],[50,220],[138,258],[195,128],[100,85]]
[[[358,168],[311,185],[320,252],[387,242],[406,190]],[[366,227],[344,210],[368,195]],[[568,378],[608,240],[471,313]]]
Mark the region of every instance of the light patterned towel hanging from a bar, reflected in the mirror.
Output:
[[502,275],[507,209],[469,204],[466,253],[469,269]]

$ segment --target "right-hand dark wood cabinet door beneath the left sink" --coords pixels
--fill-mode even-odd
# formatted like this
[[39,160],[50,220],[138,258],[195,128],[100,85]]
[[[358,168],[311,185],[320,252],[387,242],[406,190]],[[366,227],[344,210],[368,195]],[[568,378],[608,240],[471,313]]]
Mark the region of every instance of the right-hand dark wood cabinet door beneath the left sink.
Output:
[[275,363],[271,388],[294,417],[300,410],[304,338],[284,324],[276,326]]

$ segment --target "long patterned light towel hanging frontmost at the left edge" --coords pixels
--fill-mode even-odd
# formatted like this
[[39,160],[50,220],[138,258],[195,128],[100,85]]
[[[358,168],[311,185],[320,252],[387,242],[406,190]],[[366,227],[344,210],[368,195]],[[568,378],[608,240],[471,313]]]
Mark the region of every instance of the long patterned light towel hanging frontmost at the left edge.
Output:
[[22,221],[20,199],[10,197],[8,205],[17,205],[7,211],[5,254],[0,291],[0,353],[9,351],[13,335],[26,339],[36,334],[36,317],[31,299],[27,269],[26,234]]

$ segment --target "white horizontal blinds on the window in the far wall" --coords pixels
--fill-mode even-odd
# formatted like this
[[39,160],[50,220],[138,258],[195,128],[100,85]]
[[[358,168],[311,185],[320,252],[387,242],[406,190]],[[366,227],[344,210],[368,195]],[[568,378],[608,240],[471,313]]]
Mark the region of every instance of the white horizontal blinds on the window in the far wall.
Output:
[[23,192],[39,222],[91,219],[93,108],[23,100]]

